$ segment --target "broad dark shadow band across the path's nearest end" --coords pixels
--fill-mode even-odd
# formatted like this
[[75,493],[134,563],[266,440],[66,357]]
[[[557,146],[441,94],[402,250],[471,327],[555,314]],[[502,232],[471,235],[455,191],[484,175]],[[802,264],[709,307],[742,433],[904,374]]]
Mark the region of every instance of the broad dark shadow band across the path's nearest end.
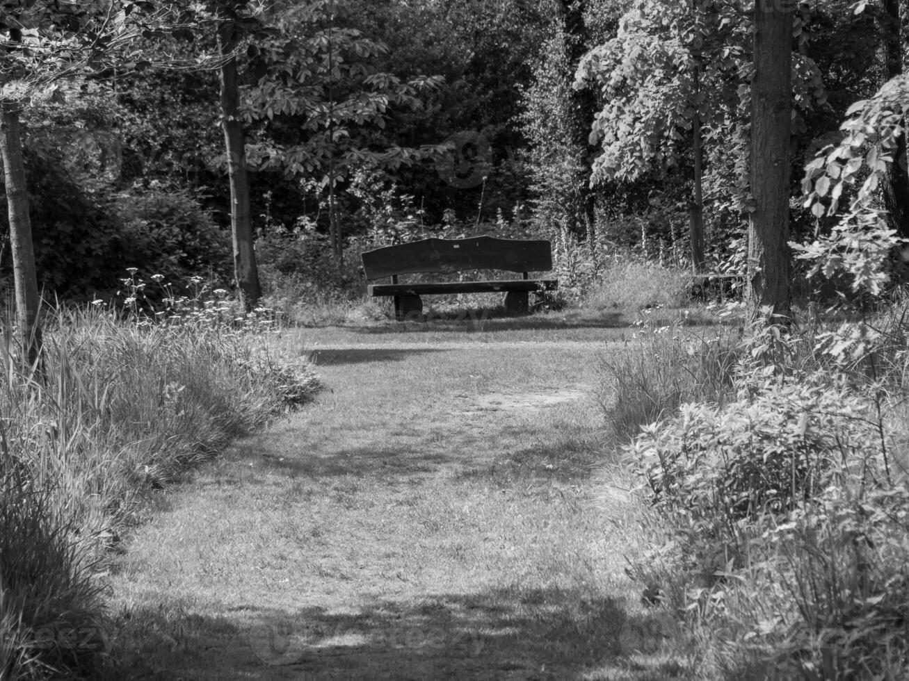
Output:
[[116,677],[561,681],[627,668],[623,653],[631,651],[620,637],[634,621],[620,600],[558,588],[376,600],[335,611],[250,603],[222,617],[148,608],[120,622]]

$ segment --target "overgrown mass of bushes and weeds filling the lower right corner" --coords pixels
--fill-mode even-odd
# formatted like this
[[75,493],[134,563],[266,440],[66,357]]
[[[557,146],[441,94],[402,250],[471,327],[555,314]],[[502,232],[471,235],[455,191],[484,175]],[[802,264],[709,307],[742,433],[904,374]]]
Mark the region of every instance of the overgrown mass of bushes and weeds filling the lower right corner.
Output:
[[633,573],[701,632],[704,676],[909,674],[904,320],[758,322],[735,400],[683,404],[628,449],[659,528]]

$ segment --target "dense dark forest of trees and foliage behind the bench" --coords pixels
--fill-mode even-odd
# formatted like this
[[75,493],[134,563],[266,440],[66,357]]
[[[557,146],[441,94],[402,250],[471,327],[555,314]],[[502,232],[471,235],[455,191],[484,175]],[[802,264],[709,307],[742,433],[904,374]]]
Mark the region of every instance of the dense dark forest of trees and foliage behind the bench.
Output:
[[[235,5],[266,291],[288,278],[359,291],[360,250],[432,233],[570,234],[687,264],[695,184],[704,267],[741,270],[752,17],[740,3]],[[902,71],[901,7],[861,5],[794,13],[794,169],[838,142],[851,104]],[[56,80],[25,106],[45,294],[110,295],[126,267],[230,281],[212,16],[146,30],[127,56]],[[792,173],[795,240],[818,229],[797,200],[803,174]]]

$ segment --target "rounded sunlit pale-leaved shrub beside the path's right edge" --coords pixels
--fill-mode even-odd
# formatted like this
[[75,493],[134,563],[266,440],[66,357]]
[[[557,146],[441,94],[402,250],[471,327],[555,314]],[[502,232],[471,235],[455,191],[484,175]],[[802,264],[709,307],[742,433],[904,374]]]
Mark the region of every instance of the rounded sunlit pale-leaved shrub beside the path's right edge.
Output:
[[667,510],[734,523],[801,508],[861,457],[867,404],[822,377],[784,380],[723,408],[682,405],[634,441],[634,467]]

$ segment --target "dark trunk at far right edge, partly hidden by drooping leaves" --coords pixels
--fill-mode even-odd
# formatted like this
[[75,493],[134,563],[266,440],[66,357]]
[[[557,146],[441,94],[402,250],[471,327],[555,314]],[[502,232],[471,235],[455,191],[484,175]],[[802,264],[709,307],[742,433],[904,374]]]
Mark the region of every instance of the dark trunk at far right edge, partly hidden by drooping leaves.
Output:
[[[903,73],[903,26],[899,0],[884,0],[884,13],[879,17],[884,42],[886,80]],[[905,125],[905,121],[903,122]],[[906,135],[896,138],[894,163],[884,180],[884,208],[891,229],[909,239],[909,173],[906,172]]]

